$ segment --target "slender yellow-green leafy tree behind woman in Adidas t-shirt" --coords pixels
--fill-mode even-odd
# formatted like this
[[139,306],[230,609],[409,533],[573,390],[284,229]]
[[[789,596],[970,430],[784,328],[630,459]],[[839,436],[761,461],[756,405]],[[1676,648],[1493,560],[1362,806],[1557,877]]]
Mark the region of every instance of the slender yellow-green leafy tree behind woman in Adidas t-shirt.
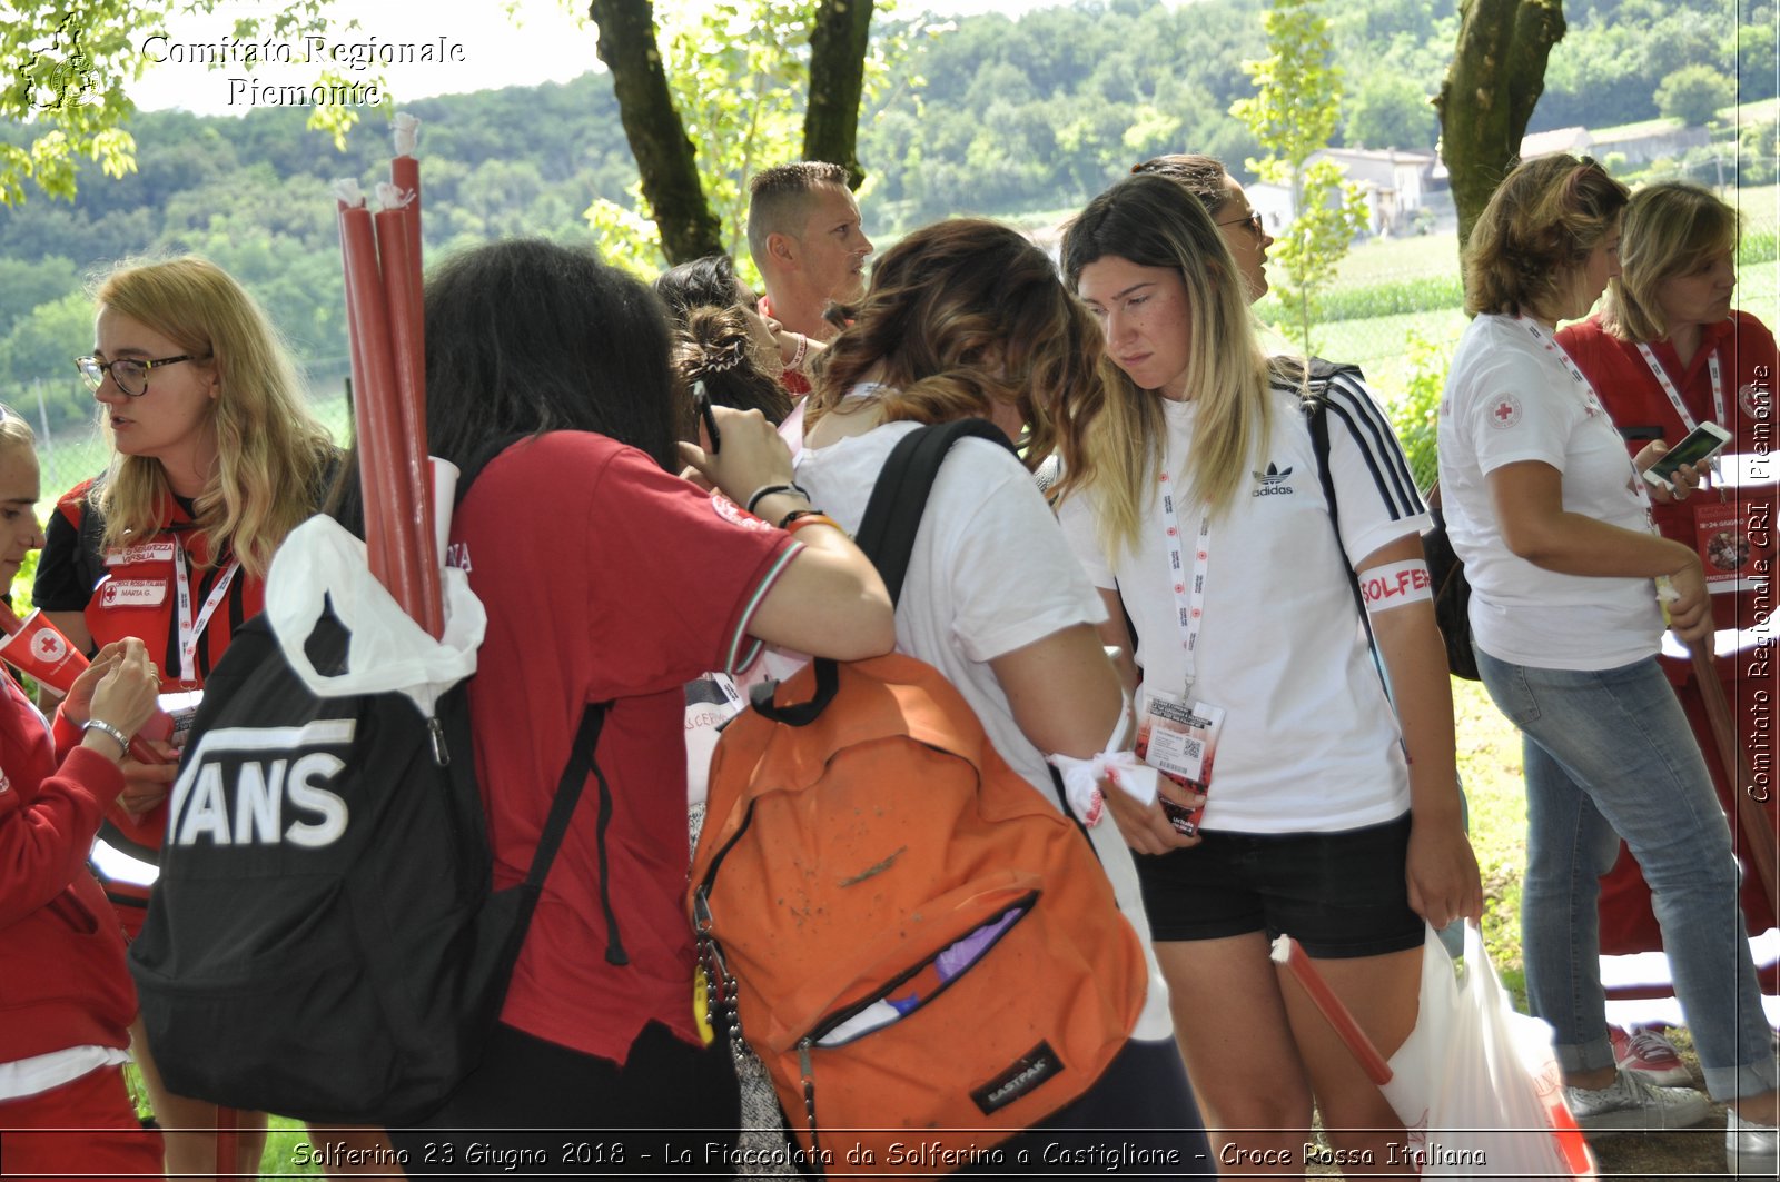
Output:
[[1290,310],[1289,331],[1308,352],[1315,296],[1335,279],[1335,265],[1365,230],[1365,198],[1358,185],[1342,180],[1339,164],[1310,160],[1335,134],[1342,89],[1317,0],[1269,0],[1262,27],[1267,57],[1242,62],[1255,96],[1232,103],[1230,114],[1248,125],[1267,153],[1250,158],[1250,171],[1292,192],[1296,214],[1278,235],[1271,260],[1285,276],[1274,296]]

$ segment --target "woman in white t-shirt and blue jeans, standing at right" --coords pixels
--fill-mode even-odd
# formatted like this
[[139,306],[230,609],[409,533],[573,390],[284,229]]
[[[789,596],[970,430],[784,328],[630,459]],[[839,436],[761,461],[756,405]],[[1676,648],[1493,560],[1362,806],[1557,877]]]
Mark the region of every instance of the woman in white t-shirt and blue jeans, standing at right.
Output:
[[[1616,1068],[1598,970],[1598,876],[1620,838],[1655,897],[1705,1086],[1732,1107],[1732,1168],[1753,1170],[1739,1121],[1766,1130],[1775,1052],[1737,910],[1730,830],[1655,655],[1668,627],[1709,641],[1693,546],[1650,522],[1648,484],[1597,386],[1556,338],[1620,274],[1627,189],[1558,155],[1508,174],[1465,247],[1460,342],[1440,406],[1447,532],[1470,579],[1477,668],[1520,728],[1527,781],[1522,943],[1527,1000],[1556,1031],[1584,1130],[1705,1120],[1696,1091]],[[1682,490],[1687,481],[1682,482]]]

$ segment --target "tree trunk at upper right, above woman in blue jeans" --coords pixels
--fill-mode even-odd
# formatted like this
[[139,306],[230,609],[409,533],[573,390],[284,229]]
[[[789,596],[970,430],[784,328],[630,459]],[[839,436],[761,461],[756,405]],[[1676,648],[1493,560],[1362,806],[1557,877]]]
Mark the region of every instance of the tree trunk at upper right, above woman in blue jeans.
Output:
[[1545,91],[1545,62],[1563,34],[1563,0],[1461,2],[1458,48],[1435,100],[1461,251],[1520,153]]

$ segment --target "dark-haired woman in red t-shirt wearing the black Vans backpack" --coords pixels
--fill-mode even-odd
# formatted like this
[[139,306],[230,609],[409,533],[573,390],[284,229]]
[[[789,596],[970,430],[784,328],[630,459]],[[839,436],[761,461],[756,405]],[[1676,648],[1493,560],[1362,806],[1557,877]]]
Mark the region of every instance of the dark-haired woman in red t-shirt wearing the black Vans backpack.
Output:
[[[758,411],[717,408],[721,447],[678,443],[668,320],[639,281],[509,240],[443,263],[425,308],[431,450],[459,466],[493,454],[450,561],[488,609],[470,705],[495,885],[523,878],[589,703],[605,703],[609,806],[589,787],[570,822],[481,1066],[397,1145],[409,1173],[479,1171],[473,1145],[543,1150],[552,1173],[562,1129],[728,1141],[728,1048],[705,1047],[692,1016],[682,687],[758,643],[878,655],[888,596],[846,534],[797,514],[810,502]],[[735,504],[675,475],[682,463]],[[787,516],[796,536],[774,527]],[[684,1171],[664,1139],[593,1164]]]

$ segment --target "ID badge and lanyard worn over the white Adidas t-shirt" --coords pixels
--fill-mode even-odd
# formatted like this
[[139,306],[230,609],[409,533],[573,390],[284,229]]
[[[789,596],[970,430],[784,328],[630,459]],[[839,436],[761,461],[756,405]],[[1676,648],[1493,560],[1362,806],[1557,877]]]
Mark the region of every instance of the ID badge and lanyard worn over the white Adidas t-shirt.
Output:
[[[1157,500],[1162,506],[1162,545],[1168,554],[1168,571],[1175,589],[1175,618],[1180,625],[1180,646],[1185,652],[1187,676],[1180,696],[1145,689],[1143,717],[1137,721],[1137,758],[1157,769],[1189,792],[1210,794],[1212,757],[1218,753],[1218,732],[1225,710],[1202,698],[1193,698],[1200,669],[1200,637],[1205,628],[1205,577],[1210,571],[1210,513],[1200,516],[1194,536],[1193,573],[1187,573],[1180,546],[1180,520],[1175,513],[1175,491],[1168,472],[1157,477]],[[1187,705],[1191,701],[1191,705]],[[1182,808],[1162,799],[1162,812],[1177,833],[1193,837],[1200,831],[1205,805]]]

